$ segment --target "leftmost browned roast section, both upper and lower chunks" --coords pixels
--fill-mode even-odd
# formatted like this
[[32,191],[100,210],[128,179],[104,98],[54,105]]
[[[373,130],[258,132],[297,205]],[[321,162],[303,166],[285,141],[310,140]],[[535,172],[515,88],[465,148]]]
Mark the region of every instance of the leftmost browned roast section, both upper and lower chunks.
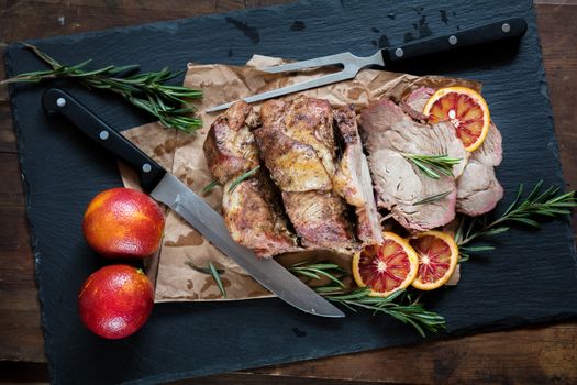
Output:
[[203,143],[207,164],[224,185],[223,218],[232,238],[258,256],[300,250],[288,228],[278,191],[266,173],[257,173],[230,191],[234,179],[259,164],[251,128],[256,117],[244,101],[231,106],[214,120]]

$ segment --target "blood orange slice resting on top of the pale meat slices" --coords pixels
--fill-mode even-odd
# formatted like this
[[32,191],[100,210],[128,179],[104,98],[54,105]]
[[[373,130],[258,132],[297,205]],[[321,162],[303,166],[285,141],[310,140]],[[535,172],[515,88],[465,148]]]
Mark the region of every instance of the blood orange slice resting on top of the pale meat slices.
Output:
[[465,150],[477,150],[489,132],[491,117],[489,107],[479,92],[467,87],[439,89],[423,108],[430,123],[450,121]]

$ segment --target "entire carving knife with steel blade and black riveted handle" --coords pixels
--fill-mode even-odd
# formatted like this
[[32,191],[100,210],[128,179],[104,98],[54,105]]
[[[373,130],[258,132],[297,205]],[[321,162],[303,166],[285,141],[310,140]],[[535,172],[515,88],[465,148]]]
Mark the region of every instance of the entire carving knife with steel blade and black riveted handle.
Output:
[[345,316],[275,260],[258,258],[252,250],[234,242],[222,217],[202,198],[73,96],[62,89],[51,88],[44,92],[42,105],[48,116],[63,116],[82,133],[134,167],[145,191],[170,207],[214,246],[280,299],[314,316],[333,318]]

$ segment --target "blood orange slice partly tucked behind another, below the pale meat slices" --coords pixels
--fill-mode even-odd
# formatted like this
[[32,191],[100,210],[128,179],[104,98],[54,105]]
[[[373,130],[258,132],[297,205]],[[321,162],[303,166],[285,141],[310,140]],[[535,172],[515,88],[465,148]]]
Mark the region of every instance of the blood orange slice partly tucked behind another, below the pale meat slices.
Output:
[[446,284],[458,262],[458,246],[453,237],[441,231],[426,231],[409,240],[419,256],[419,270],[412,285],[432,290]]

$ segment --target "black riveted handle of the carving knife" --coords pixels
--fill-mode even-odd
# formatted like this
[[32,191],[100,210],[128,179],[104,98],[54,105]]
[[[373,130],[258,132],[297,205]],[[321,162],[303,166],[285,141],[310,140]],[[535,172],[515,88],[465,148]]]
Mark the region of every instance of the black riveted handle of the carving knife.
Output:
[[154,189],[166,174],[166,170],[148,155],[62,89],[51,88],[46,90],[42,96],[42,106],[48,116],[65,117],[91,140],[100,143],[118,158],[134,167],[145,191],[149,193]]

